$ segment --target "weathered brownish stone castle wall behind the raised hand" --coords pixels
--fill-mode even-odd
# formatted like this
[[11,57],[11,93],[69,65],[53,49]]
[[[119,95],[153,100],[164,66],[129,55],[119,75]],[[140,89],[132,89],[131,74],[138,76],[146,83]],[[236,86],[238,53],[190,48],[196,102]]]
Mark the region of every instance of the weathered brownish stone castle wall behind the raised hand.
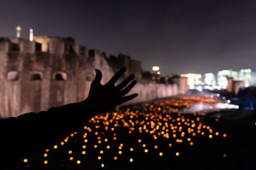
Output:
[[[0,118],[82,101],[88,96],[95,68],[102,71],[104,84],[118,66],[129,62],[123,57],[126,65],[120,62],[111,67],[99,50],[76,45],[72,38],[34,39],[0,39]],[[127,104],[179,94],[178,85],[141,80],[140,62],[131,60],[127,68],[127,75],[136,74],[138,85],[132,92],[139,94]]]

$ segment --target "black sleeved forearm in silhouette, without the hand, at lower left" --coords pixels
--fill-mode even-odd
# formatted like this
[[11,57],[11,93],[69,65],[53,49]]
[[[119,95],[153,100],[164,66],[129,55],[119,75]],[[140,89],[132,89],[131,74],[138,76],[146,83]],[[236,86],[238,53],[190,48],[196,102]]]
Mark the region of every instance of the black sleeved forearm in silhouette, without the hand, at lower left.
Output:
[[90,118],[89,107],[74,103],[0,120],[0,164],[8,165],[58,145]]

